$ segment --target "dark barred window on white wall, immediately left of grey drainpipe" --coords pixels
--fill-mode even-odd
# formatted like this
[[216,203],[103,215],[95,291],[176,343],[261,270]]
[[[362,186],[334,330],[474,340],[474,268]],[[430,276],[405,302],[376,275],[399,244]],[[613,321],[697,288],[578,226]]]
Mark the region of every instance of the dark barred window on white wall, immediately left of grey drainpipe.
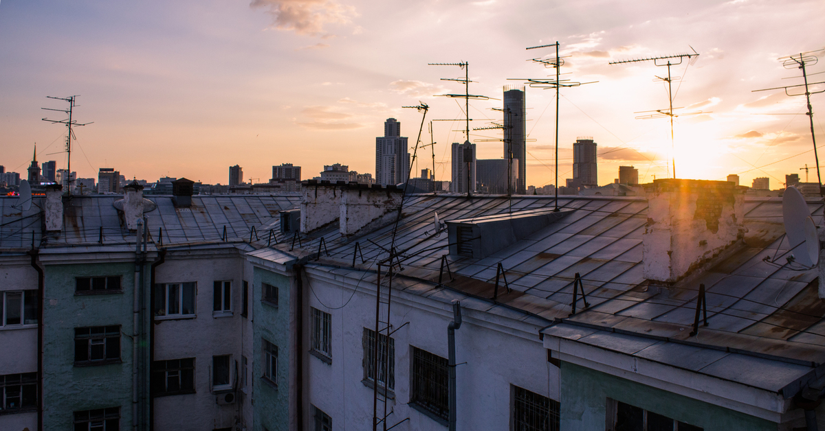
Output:
[[410,404],[429,411],[436,417],[448,419],[450,398],[448,365],[445,358],[427,350],[413,349],[413,374],[410,383]]

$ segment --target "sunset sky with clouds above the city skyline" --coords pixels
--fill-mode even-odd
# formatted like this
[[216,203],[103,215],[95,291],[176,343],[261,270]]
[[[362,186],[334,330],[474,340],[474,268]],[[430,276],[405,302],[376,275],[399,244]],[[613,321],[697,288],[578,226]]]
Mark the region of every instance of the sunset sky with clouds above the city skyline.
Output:
[[[805,97],[762,88],[801,84],[780,58],[823,59],[809,82],[825,81],[825,2],[579,0],[417,2],[365,0],[0,0],[0,165],[24,172],[39,162],[66,167],[66,103],[79,95],[71,166],[78,177],[114,167],[126,178],[161,176],[226,184],[229,166],[266,182],[271,166],[302,166],[304,179],[341,163],[375,175],[375,137],[393,117],[409,138],[422,130],[413,173],[433,167],[450,180],[450,143],[464,142],[457,100],[441,78],[469,63],[472,128],[501,121],[502,87],[554,74],[534,58],[564,57],[561,72],[580,87],[559,99],[559,182],[571,178],[578,137],[598,144],[599,182],[635,166],[639,180],[676,176],[740,184],[785,174],[816,181]],[[692,53],[671,68],[674,121],[636,119],[666,109],[667,67],[622,59]],[[814,74],[823,73],[823,74]],[[585,82],[590,82],[586,83]],[[812,87],[825,90],[823,85]],[[790,90],[798,94],[799,88]],[[555,91],[526,88],[527,185],[554,184]],[[811,96],[825,145],[825,93]],[[403,106],[429,105],[422,112]],[[640,113],[641,112],[641,113]],[[471,131],[479,158],[502,157],[499,130]],[[819,150],[825,157],[825,148]],[[823,160],[825,165],[825,160]],[[823,172],[825,174],[825,172]]]

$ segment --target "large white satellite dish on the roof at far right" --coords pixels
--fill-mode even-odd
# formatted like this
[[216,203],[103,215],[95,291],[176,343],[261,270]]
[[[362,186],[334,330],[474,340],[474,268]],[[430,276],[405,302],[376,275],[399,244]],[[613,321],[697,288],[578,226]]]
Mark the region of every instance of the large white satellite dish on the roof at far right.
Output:
[[815,266],[819,263],[819,236],[817,227],[808,210],[808,203],[793,185],[782,195],[782,220],[788,237],[791,254],[801,265]]

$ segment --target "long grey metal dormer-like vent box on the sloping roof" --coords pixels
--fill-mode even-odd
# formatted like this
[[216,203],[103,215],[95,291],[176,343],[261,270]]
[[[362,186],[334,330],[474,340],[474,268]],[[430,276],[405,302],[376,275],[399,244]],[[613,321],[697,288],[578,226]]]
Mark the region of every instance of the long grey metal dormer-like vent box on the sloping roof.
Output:
[[566,217],[571,210],[520,211],[478,218],[448,220],[450,255],[482,259],[516,241],[529,239],[544,227]]

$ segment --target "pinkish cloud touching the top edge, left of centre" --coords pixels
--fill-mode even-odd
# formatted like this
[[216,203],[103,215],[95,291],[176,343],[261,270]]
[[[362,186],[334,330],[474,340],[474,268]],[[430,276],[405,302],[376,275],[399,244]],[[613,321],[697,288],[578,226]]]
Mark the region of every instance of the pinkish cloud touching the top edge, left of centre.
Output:
[[348,25],[358,16],[355,7],[334,0],[252,0],[249,6],[266,10],[276,29],[299,35],[323,35],[324,26]]

